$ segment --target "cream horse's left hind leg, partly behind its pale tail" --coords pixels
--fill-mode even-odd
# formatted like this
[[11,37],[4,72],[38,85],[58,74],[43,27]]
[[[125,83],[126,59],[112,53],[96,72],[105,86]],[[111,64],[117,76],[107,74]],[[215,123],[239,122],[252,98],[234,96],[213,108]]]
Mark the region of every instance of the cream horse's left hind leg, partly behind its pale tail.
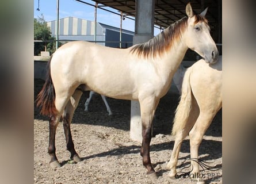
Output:
[[178,162],[179,150],[181,150],[181,143],[185,139],[185,137],[188,136],[190,129],[193,127],[194,123],[197,120],[198,114],[199,108],[197,102],[193,98],[188,121],[186,122],[186,127],[185,129],[182,129],[181,131],[177,132],[173,146],[173,152],[171,153],[170,161],[167,164],[167,168],[170,169],[169,177],[171,178],[175,177],[175,174],[177,173],[176,166]]

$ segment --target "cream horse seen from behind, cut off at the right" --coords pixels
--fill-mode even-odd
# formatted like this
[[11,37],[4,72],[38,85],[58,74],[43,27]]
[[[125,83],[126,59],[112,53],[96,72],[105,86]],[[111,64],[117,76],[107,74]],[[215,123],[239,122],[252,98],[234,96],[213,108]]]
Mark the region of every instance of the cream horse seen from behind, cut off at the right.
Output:
[[[171,159],[167,164],[169,176],[175,177],[181,143],[189,134],[192,171],[198,176],[198,147],[202,136],[222,106],[221,96],[222,56],[215,64],[207,64],[203,59],[189,67],[184,76],[181,100],[175,112],[173,135],[175,143]],[[198,179],[198,178],[197,178]]]

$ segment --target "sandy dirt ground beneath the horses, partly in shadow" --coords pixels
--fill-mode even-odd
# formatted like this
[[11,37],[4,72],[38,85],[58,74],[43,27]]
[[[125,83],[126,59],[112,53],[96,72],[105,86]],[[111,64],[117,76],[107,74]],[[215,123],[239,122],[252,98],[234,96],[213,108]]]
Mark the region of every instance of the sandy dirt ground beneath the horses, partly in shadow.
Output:
[[[44,81],[35,79],[35,97]],[[156,110],[151,140],[151,162],[158,173],[152,181],[146,175],[140,156],[140,143],[129,138],[130,101],[108,98],[113,112],[108,116],[100,95],[95,94],[84,112],[85,95],[82,96],[71,124],[72,137],[82,162],[70,163],[62,122],[56,131],[56,155],[62,167],[49,166],[48,118],[34,111],[34,183],[196,183],[189,178],[171,179],[166,164],[170,159],[174,137],[170,135],[179,95],[171,91],[161,99]],[[222,183],[221,110],[217,113],[200,145],[199,158],[215,171],[205,170],[206,183]],[[188,171],[190,147],[188,137],[179,154],[177,171]],[[185,164],[182,164],[184,163]],[[200,168],[202,170],[202,168]]]

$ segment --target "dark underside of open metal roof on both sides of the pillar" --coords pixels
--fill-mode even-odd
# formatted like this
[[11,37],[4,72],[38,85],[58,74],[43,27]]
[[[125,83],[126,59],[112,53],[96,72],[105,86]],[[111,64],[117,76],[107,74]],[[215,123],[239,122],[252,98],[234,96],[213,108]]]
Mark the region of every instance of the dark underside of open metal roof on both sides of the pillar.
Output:
[[[98,2],[99,7],[112,7],[123,11],[124,15],[135,17],[135,0],[92,0]],[[206,18],[212,27],[221,24],[221,0],[155,0],[154,24],[167,28],[170,24],[186,16],[186,4],[190,2],[194,13],[201,13],[208,7]],[[219,17],[220,16],[220,17]]]

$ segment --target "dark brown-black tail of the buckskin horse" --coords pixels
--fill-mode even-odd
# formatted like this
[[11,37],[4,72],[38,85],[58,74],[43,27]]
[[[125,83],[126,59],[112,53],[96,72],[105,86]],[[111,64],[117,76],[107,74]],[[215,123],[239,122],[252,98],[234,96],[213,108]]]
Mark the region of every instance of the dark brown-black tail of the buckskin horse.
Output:
[[52,116],[58,112],[55,107],[55,89],[51,78],[52,56],[47,64],[47,74],[44,86],[36,98],[37,107],[41,109],[40,113],[45,116]]

